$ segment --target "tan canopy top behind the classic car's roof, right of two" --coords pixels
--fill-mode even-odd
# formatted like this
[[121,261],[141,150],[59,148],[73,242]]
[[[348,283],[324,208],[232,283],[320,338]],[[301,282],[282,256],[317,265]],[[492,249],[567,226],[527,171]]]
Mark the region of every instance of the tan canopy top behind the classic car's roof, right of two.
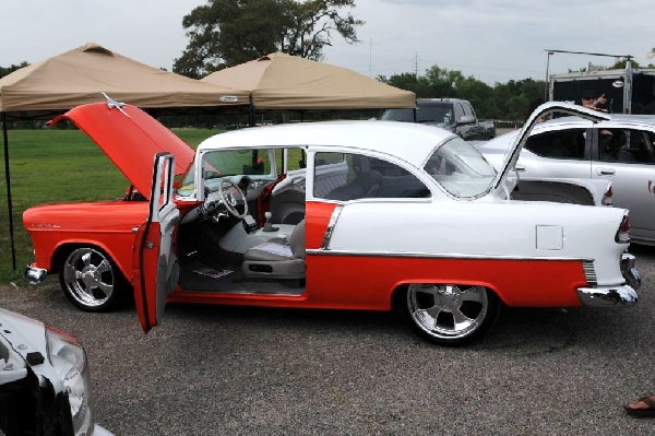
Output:
[[201,82],[248,90],[257,109],[374,109],[416,104],[413,92],[282,52],[216,71]]

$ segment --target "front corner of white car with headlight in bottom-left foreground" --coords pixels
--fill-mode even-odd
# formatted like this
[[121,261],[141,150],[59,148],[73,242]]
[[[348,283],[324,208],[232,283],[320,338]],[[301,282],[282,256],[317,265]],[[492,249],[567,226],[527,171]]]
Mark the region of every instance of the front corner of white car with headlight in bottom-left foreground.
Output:
[[73,337],[0,309],[0,434],[111,436],[94,424],[86,353]]

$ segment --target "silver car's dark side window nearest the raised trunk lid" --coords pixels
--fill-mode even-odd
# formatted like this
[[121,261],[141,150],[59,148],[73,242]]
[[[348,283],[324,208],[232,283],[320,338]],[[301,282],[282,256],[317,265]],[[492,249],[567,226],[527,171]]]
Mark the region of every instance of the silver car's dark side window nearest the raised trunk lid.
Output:
[[532,135],[525,148],[544,157],[583,160],[585,129],[558,130]]

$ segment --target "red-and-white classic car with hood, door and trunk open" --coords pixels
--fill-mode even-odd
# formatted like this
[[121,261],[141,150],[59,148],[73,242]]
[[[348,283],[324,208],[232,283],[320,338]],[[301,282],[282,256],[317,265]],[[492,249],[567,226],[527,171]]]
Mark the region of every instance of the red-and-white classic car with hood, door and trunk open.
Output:
[[252,128],[194,153],[133,106],[79,106],[53,122],[84,130],[132,187],[121,201],[27,210],[36,259],[26,275],[58,272],[85,310],[133,291],[145,331],[167,302],[397,308],[428,340],[461,344],[486,331],[501,304],[635,303],[628,211],[509,199],[510,168],[552,109],[603,117],[541,106],[496,172],[434,127]]

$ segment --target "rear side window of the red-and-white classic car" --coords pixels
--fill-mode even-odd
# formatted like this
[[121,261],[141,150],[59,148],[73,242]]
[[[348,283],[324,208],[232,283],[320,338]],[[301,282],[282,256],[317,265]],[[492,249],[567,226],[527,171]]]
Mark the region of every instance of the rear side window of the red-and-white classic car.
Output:
[[[430,190],[422,181],[391,162],[342,153],[317,153],[314,161],[315,198],[347,201],[430,197]],[[325,164],[329,162],[332,164]]]

